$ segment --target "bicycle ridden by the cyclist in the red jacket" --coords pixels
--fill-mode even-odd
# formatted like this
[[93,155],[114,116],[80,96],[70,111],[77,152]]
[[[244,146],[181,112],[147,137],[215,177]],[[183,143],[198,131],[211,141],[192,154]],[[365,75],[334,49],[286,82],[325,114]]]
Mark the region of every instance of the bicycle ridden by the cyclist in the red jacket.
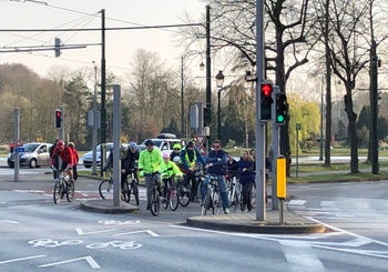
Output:
[[[68,174],[69,170],[71,170],[71,168],[67,168],[63,171],[58,171],[58,178],[52,193],[55,204],[58,204],[61,199],[64,198],[64,194],[67,195],[68,202],[72,202],[74,200],[74,182],[70,181],[70,175]],[[57,171],[57,169],[54,169],[54,171]]]

